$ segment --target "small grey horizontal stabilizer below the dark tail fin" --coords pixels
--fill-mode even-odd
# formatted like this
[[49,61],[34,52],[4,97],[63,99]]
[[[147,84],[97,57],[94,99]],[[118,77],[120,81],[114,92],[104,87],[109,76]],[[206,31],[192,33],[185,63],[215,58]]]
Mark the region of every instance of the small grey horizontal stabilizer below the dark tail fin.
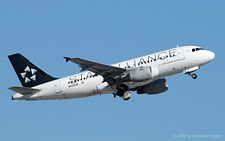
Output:
[[41,91],[39,89],[33,89],[33,88],[27,88],[27,87],[16,87],[16,86],[10,87],[9,89],[16,93],[20,93],[22,95],[34,94]]

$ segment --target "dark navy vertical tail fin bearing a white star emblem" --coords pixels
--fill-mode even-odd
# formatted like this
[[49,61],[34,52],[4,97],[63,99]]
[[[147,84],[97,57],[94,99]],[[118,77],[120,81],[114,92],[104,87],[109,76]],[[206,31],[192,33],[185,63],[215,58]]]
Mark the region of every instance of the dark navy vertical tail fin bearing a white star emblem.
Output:
[[56,79],[19,53],[8,57],[23,87],[34,87]]

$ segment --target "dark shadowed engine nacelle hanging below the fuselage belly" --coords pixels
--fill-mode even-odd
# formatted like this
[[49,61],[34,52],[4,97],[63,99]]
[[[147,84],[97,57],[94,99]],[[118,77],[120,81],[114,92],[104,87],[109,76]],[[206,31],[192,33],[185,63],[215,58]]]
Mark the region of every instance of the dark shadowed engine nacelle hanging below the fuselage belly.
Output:
[[168,84],[166,79],[158,79],[152,83],[149,83],[139,90],[137,90],[138,94],[159,94],[168,90]]

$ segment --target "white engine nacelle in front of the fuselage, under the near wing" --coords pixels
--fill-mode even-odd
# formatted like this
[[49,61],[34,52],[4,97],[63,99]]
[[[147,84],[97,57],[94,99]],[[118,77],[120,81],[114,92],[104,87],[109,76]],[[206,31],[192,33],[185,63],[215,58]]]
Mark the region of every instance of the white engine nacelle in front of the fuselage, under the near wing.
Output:
[[123,82],[142,82],[153,79],[159,75],[159,70],[156,67],[138,67],[129,70],[129,73],[122,78]]

